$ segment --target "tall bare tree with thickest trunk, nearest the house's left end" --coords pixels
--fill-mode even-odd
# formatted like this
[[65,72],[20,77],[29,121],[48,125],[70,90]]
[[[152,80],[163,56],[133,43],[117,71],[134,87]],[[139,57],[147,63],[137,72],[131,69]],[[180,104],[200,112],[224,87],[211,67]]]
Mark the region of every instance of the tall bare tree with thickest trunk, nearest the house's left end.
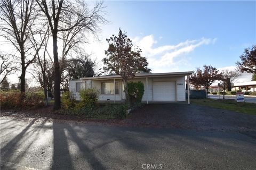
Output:
[[[90,10],[84,1],[51,1],[36,0],[46,16],[53,40],[54,60],[54,109],[60,109],[60,63],[58,57],[58,32],[69,31],[76,27],[96,33],[99,23],[104,23],[102,2],[97,2]],[[67,20],[70,19],[70,20]]]

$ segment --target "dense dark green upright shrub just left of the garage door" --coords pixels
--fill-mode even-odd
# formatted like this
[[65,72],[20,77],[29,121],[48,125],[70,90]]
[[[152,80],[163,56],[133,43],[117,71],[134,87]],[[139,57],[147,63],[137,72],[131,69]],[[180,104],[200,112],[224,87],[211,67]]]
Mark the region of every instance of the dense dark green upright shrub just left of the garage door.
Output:
[[133,103],[141,103],[143,94],[144,94],[144,84],[141,81],[138,82],[128,82],[128,95],[130,98],[130,102]]

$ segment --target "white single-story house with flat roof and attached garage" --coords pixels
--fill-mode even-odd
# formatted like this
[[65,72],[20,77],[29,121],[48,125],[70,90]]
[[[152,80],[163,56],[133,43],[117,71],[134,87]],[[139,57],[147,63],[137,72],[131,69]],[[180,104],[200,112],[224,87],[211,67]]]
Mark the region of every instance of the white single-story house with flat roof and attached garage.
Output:
[[[191,73],[193,72],[137,73],[129,81],[141,81],[144,84],[145,91],[142,101],[146,103],[186,101],[185,76],[189,77]],[[187,79],[187,84],[189,84],[189,79]],[[120,75],[69,80],[69,91],[76,100],[81,100],[79,91],[83,88],[98,89],[100,91],[99,101],[114,101],[115,103],[116,101],[125,100],[124,86]]]

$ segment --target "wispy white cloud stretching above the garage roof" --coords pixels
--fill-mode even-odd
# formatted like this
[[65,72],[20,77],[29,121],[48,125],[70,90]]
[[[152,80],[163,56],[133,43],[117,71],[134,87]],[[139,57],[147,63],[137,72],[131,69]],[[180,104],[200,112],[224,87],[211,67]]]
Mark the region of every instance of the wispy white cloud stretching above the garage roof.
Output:
[[[162,39],[163,37],[159,38]],[[191,53],[195,48],[202,45],[214,44],[217,38],[214,39],[193,39],[186,40],[175,45],[163,45],[154,47],[158,44],[158,41],[154,39],[153,35],[145,37],[135,37],[133,43],[142,49],[142,55],[148,57],[149,67],[153,69],[153,72],[171,72],[177,69],[177,64],[188,64],[188,61],[184,57],[186,54]],[[179,58],[178,61],[174,61],[174,58]],[[170,69],[172,66],[172,69]],[[173,67],[174,66],[174,67]],[[175,69],[176,68],[176,69]],[[169,69],[169,70],[168,70]]]

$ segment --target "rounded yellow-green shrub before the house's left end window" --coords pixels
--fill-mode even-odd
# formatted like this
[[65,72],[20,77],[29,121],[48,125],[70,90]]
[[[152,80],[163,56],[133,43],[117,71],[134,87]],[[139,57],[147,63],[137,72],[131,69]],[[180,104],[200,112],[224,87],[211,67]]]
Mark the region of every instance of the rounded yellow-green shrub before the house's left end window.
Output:
[[95,106],[96,101],[99,98],[99,91],[96,88],[84,89],[79,91],[81,96],[81,104],[85,107],[93,107]]

